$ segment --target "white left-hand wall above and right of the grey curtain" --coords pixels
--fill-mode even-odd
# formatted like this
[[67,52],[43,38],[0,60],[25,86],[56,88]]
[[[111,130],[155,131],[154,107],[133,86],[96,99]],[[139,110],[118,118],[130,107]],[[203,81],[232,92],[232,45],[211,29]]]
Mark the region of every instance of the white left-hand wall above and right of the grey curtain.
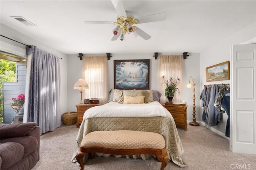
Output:
[[[26,45],[35,45],[38,49],[44,50],[48,53],[61,57],[60,60],[60,111],[61,113],[67,112],[67,55],[49,47],[46,44],[40,43],[31,37],[28,37],[6,25],[1,24],[1,35],[4,35],[10,39],[14,39]],[[0,37],[1,38],[1,37]],[[14,41],[9,41],[10,43]],[[14,44],[13,44],[14,45]]]

